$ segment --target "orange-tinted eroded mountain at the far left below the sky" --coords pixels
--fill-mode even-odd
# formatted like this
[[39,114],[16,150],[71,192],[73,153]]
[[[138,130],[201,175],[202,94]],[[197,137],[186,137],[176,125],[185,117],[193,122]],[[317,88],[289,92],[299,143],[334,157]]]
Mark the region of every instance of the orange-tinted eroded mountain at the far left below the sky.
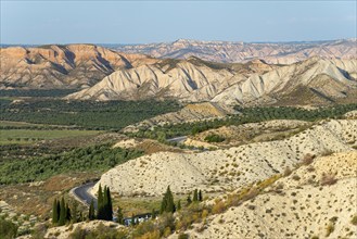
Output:
[[0,88],[88,87],[117,70],[150,61],[93,45],[1,48]]

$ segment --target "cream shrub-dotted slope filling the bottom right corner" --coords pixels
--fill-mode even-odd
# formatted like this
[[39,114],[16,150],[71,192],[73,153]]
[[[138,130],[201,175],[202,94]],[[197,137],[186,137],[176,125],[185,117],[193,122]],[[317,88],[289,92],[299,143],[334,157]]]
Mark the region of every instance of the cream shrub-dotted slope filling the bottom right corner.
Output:
[[[316,159],[190,238],[356,238],[357,152]],[[353,219],[355,218],[355,219]],[[177,238],[174,236],[173,238]]]

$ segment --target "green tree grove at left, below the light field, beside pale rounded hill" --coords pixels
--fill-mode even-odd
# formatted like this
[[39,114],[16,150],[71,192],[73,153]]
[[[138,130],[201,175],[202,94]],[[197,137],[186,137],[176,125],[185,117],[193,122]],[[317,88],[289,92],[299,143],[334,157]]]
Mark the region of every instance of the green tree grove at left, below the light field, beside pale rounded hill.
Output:
[[104,172],[140,155],[141,151],[102,144],[48,156],[9,159],[0,164],[0,185],[43,180],[63,173]]

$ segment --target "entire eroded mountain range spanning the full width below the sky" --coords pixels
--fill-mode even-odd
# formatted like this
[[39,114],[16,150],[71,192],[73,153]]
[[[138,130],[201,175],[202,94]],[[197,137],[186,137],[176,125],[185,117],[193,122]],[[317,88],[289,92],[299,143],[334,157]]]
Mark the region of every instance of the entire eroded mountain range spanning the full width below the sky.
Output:
[[[122,46],[118,50],[126,53],[94,45],[9,47],[0,51],[0,88],[78,89],[66,97],[71,100],[355,102],[356,43],[356,39],[297,43],[178,40]],[[219,53],[222,49],[225,54]],[[175,54],[169,53],[174,50]],[[215,61],[204,60],[207,55]]]

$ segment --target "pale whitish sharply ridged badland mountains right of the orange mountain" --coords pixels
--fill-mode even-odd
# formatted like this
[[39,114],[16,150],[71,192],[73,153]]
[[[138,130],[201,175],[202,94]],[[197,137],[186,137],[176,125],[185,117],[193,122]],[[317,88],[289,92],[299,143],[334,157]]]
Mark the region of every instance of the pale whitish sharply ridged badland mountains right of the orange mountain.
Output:
[[321,104],[357,101],[357,59],[311,58],[291,65],[260,60],[213,63],[197,58],[161,60],[119,70],[67,99],[117,100],[174,98],[222,103]]

